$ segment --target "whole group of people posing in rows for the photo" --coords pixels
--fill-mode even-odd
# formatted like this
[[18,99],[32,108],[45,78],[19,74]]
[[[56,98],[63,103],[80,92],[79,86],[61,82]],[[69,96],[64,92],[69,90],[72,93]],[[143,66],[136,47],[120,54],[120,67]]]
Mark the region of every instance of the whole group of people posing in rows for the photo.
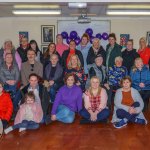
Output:
[[[81,124],[107,122],[113,106],[115,128],[129,122],[147,124],[142,111],[150,97],[150,48],[145,38],[138,51],[133,40],[122,51],[114,33],[109,34],[106,50],[98,38],[91,44],[86,33],[78,46],[74,40],[64,44],[61,34],[56,39],[44,54],[35,40],[28,43],[22,38],[16,50],[12,41],[4,42],[0,126],[6,134],[55,120],[72,123],[76,112],[82,116]],[[14,125],[8,127],[11,118]]]

